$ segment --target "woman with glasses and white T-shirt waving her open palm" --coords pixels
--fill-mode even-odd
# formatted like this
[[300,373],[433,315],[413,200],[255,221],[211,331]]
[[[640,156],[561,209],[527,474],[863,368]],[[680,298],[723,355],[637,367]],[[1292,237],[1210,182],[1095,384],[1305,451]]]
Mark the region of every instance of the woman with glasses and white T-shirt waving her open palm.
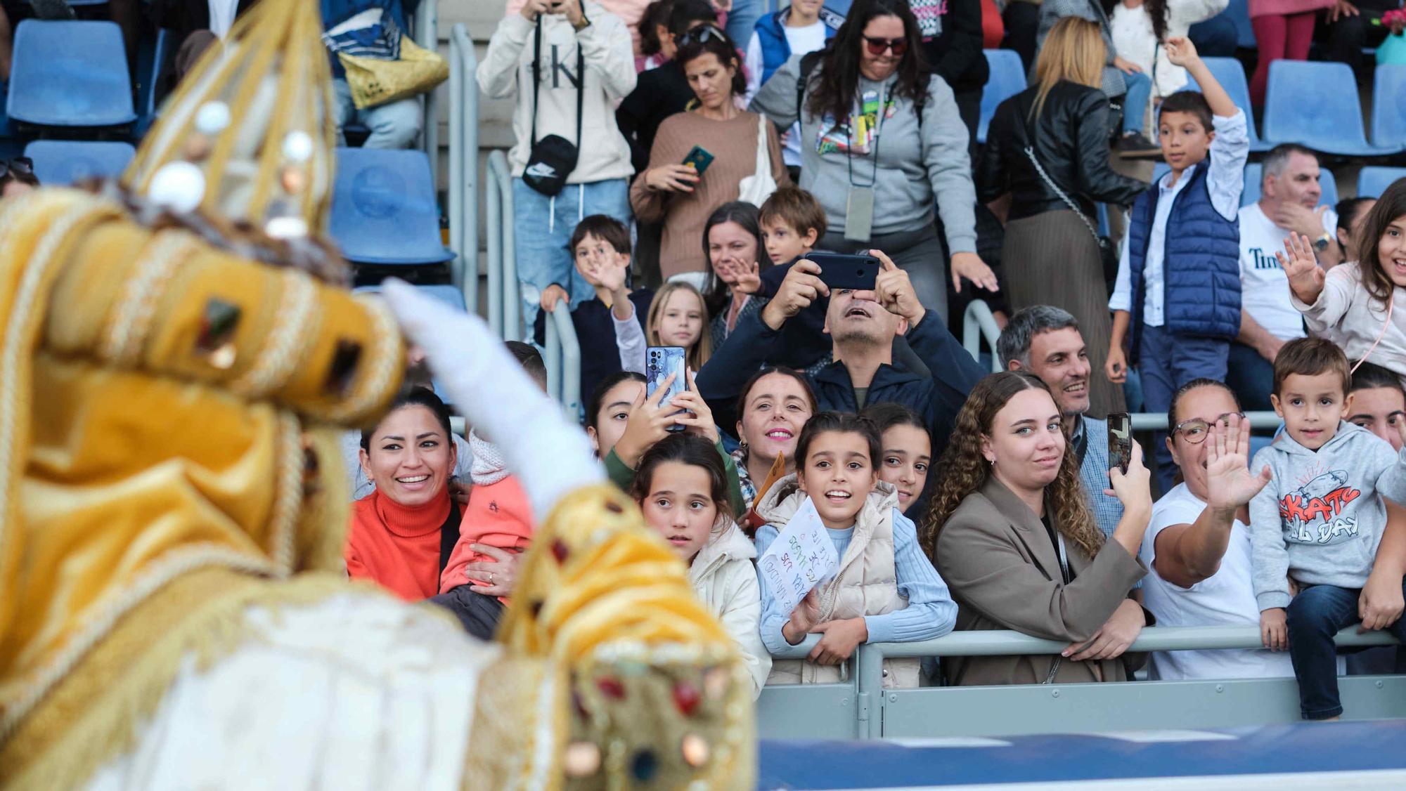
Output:
[[[1256,627],[1249,503],[1270,481],[1251,472],[1250,421],[1226,385],[1192,379],[1171,399],[1167,447],[1182,482],[1152,509],[1142,561],[1143,604],[1161,627]],[[1398,596],[1400,580],[1398,579]],[[1153,679],[1294,676],[1285,652],[1168,651],[1149,659]]]

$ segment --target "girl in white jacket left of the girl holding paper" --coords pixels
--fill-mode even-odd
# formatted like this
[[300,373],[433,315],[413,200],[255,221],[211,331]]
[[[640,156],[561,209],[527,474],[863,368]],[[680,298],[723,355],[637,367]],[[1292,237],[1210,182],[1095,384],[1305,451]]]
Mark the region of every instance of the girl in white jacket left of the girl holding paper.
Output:
[[727,473],[713,443],[671,434],[640,459],[630,492],[644,521],[689,563],[689,583],[737,642],[762,693],[772,656],[761,638],[762,596],[752,558],[756,549],[733,521]]

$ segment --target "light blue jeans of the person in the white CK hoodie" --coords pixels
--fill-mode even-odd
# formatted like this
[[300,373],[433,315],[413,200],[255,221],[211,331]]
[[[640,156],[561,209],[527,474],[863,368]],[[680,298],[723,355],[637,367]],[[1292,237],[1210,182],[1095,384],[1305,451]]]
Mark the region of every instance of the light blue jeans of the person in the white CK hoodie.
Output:
[[522,178],[513,178],[513,236],[517,251],[517,284],[522,288],[524,327],[537,323],[541,292],[551,284],[567,289],[575,310],[596,291],[581,277],[567,244],[582,218],[613,216],[630,225],[630,183],[626,178],[567,184],[554,197],[543,195]]

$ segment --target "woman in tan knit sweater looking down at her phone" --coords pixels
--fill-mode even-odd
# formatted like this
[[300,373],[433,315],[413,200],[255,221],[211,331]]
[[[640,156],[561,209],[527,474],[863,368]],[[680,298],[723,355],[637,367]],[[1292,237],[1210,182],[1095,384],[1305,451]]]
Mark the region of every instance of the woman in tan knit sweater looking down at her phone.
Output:
[[[699,247],[703,223],[713,209],[735,201],[741,180],[756,170],[758,128],[766,133],[772,178],[778,185],[790,183],[776,129],[737,107],[747,81],[731,39],[713,25],[696,27],[681,39],[678,60],[697,100],[659,124],[650,167],[630,187],[636,216],[664,222],[659,270],[665,278],[707,271]],[[713,155],[703,174],[683,164],[693,146]]]

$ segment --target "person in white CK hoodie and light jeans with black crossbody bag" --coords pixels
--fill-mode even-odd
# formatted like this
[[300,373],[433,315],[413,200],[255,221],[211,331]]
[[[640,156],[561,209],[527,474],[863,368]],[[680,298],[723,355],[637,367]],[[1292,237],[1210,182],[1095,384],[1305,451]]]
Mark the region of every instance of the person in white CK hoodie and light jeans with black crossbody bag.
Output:
[[[595,0],[523,0],[478,66],[491,98],[513,98],[513,223],[523,326],[550,285],[569,309],[595,298],[568,242],[583,216],[630,222],[630,145],[614,105],[636,86],[630,31]],[[550,156],[546,153],[550,149]]]

